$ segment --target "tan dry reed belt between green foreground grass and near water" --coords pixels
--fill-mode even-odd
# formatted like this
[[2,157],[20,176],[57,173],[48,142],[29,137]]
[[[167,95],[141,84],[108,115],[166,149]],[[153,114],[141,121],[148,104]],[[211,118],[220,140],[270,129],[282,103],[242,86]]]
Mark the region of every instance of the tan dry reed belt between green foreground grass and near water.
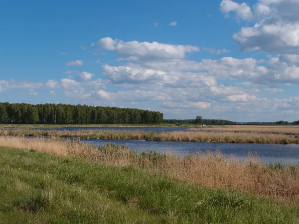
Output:
[[96,148],[82,142],[60,139],[0,137],[0,146],[34,149],[60,156],[75,156],[114,166],[134,166],[180,181],[219,189],[247,191],[262,196],[298,201],[299,168],[269,166],[258,158],[240,162],[221,152],[198,153],[179,158],[170,154],[137,153],[126,146]]

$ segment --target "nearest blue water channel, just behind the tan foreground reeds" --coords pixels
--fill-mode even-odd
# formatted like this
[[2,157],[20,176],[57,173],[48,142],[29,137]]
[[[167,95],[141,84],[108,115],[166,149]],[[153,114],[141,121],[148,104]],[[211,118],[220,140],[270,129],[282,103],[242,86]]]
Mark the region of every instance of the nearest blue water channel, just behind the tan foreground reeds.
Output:
[[192,154],[198,151],[220,149],[225,155],[235,155],[238,159],[246,159],[249,152],[258,153],[262,162],[266,163],[291,163],[299,162],[299,144],[234,144],[234,143],[210,143],[210,142],[173,142],[173,141],[145,141],[145,140],[96,140],[81,139],[85,143],[95,146],[107,143],[124,144],[140,153],[143,151],[155,151],[160,153],[171,152],[179,156]]

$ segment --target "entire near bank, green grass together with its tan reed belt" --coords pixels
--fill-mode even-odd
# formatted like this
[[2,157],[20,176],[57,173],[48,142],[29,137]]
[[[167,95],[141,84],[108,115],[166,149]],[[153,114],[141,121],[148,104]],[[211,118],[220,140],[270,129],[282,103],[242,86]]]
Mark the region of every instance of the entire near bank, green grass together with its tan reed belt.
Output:
[[299,167],[0,136],[0,223],[297,223]]

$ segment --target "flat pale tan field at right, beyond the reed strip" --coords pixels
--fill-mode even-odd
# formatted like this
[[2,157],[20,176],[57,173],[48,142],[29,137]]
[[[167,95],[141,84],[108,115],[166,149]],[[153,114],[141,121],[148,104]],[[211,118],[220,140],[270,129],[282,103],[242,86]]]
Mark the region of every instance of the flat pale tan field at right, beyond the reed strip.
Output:
[[211,126],[202,129],[189,128],[190,131],[221,131],[234,133],[258,133],[258,134],[284,134],[284,135],[299,135],[298,125],[274,125],[274,126],[259,126],[259,125],[231,125],[231,126]]

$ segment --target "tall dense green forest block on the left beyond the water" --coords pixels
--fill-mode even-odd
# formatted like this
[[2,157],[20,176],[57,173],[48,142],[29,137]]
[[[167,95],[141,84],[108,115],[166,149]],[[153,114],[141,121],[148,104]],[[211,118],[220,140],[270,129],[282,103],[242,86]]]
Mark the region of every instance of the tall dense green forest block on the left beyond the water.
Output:
[[0,123],[19,124],[84,124],[133,123],[159,124],[163,113],[148,110],[95,107],[66,104],[0,103]]

